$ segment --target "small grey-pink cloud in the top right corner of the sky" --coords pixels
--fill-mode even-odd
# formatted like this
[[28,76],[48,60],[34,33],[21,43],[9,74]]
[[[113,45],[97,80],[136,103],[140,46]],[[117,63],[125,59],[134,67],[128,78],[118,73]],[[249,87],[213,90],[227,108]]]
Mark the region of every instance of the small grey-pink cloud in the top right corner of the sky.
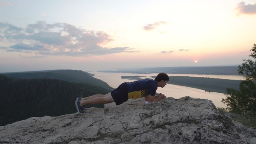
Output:
[[249,14],[249,15],[253,15],[256,14],[256,3],[254,4],[245,4],[245,2],[241,2],[237,4],[237,7],[235,8],[235,10],[238,11],[238,15],[240,14]]

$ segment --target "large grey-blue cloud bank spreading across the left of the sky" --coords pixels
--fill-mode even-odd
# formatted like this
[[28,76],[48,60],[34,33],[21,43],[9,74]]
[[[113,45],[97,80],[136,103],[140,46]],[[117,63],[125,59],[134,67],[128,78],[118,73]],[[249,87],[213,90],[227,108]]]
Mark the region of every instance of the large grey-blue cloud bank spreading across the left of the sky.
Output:
[[0,22],[0,34],[0,39],[4,38],[16,43],[9,46],[7,52],[34,52],[43,56],[90,56],[137,52],[129,47],[103,47],[102,45],[114,41],[108,33],[85,30],[68,23],[47,24],[44,21],[37,21],[21,28]]

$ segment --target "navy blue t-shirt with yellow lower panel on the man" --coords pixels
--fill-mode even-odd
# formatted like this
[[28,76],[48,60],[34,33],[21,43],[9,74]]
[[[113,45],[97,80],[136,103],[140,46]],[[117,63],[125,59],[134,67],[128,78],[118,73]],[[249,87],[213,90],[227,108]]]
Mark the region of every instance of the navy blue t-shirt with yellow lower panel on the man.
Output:
[[158,82],[153,79],[141,79],[126,83],[128,87],[128,98],[142,98],[148,95],[154,96],[158,89]]

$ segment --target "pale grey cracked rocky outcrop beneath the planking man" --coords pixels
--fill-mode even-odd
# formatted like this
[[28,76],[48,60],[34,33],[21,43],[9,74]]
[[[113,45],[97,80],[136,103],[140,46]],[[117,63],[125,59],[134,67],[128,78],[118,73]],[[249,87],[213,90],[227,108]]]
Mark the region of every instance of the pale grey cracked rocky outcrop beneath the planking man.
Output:
[[88,108],[59,117],[29,118],[0,126],[7,144],[256,144],[256,130],[233,123],[207,99],[188,96],[144,104]]

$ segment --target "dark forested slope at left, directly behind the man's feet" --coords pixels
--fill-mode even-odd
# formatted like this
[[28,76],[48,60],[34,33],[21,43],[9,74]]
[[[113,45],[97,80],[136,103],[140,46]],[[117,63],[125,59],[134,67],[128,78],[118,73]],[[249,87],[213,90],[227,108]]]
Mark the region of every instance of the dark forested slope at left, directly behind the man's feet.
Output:
[[[58,79],[12,79],[0,75],[0,125],[30,117],[76,113],[77,97],[107,94],[110,90]],[[104,105],[86,105],[86,108]]]

